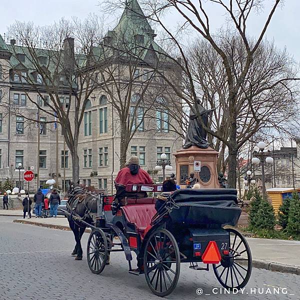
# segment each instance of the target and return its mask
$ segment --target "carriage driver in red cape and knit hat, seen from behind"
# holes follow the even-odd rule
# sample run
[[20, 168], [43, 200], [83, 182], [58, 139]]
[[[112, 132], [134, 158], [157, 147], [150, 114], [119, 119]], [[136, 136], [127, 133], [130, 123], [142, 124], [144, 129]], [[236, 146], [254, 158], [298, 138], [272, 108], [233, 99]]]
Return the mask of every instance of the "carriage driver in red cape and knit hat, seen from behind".
[[[116, 195], [114, 204], [124, 204], [125, 186], [127, 184], [153, 184], [149, 174], [139, 166], [139, 159], [137, 156], [132, 155], [125, 163], [125, 167], [120, 169], [117, 173], [114, 185], [116, 188]], [[138, 195], [144, 196], [144, 193]]]

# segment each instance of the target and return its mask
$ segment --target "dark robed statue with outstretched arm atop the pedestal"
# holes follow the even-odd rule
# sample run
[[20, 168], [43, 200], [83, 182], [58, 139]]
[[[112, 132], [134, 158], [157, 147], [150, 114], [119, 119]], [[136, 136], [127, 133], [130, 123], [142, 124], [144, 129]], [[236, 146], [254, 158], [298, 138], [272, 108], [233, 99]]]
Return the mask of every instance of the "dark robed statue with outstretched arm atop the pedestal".
[[[208, 125], [208, 115], [211, 115], [213, 109], [205, 109], [201, 106], [200, 102], [197, 101], [197, 107], [201, 115], [204, 125]], [[186, 132], [186, 137], [183, 145], [183, 149], [187, 149], [190, 146], [197, 146], [201, 149], [206, 149], [209, 145], [207, 138], [207, 131], [203, 128], [201, 121], [198, 119], [195, 114], [196, 107], [192, 106], [189, 112], [189, 123]]]

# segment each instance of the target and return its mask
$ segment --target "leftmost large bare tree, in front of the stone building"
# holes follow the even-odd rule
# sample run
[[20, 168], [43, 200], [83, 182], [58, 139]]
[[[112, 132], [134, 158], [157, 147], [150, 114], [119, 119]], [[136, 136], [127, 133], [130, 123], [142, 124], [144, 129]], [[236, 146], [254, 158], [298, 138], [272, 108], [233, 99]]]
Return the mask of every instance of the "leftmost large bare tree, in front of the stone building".
[[[9, 31], [12, 36], [17, 36], [11, 44], [10, 80], [19, 82], [31, 105], [49, 116], [51, 120], [46, 123], [61, 124], [71, 154], [72, 178], [77, 180], [80, 125], [85, 104], [97, 87], [97, 71], [91, 64], [102, 59], [92, 51], [102, 41], [101, 20], [89, 15], [83, 21], [61, 19], [44, 27], [17, 21]], [[67, 103], [62, 103], [62, 95], [67, 97]], [[38, 121], [19, 107], [14, 107], [14, 113], [24, 116], [29, 122]]]

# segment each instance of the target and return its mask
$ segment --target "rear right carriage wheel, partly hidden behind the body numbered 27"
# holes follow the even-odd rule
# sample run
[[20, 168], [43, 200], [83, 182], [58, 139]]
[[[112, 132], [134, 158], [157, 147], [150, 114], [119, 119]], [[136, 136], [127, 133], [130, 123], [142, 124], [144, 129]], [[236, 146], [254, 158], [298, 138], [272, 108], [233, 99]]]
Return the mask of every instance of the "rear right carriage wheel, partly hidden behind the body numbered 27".
[[229, 255], [219, 264], [213, 264], [217, 280], [225, 288], [244, 287], [251, 275], [252, 257], [245, 238], [235, 229], [226, 228], [229, 234]]

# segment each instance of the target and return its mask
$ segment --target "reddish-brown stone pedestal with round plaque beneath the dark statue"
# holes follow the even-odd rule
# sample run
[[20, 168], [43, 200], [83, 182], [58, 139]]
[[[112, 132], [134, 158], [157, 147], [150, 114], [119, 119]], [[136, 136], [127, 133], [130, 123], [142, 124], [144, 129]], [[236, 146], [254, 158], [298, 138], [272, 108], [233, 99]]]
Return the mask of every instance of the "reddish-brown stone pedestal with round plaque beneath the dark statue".
[[194, 172], [196, 183], [201, 188], [219, 188], [218, 175], [216, 170], [216, 162], [218, 152], [208, 147], [201, 149], [191, 146], [187, 149], [180, 149], [173, 153], [176, 162], [176, 180], [180, 187], [185, 187], [185, 181], [189, 177], [190, 172], [194, 172], [194, 160], [201, 162], [200, 172]]

